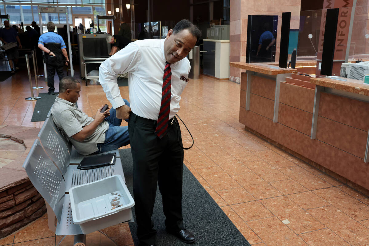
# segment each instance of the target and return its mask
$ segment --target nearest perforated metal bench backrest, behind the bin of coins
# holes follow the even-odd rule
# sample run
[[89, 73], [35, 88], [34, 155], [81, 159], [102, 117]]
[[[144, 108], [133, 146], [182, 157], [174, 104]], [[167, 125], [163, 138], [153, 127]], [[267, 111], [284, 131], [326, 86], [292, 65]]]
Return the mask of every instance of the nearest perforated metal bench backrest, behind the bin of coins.
[[38, 139], [35, 140], [30, 152], [23, 163], [31, 183], [42, 195], [61, 221], [65, 181], [61, 172], [45, 153]]

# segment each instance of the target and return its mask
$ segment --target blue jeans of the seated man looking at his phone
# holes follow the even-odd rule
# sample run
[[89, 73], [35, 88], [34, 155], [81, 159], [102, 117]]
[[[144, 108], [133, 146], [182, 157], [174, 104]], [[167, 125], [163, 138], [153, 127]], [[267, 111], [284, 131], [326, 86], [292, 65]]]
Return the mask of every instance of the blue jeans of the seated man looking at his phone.
[[[130, 103], [123, 99], [125, 104], [130, 107]], [[110, 109], [110, 116], [105, 119], [108, 122], [109, 128], [105, 132], [104, 143], [98, 143], [97, 148], [98, 153], [107, 152], [109, 150], [118, 149], [122, 146], [128, 145], [130, 143], [130, 136], [128, 135], [128, 127], [121, 127], [121, 119], [117, 118], [117, 114], [114, 108]], [[129, 119], [125, 119], [129, 121]]]

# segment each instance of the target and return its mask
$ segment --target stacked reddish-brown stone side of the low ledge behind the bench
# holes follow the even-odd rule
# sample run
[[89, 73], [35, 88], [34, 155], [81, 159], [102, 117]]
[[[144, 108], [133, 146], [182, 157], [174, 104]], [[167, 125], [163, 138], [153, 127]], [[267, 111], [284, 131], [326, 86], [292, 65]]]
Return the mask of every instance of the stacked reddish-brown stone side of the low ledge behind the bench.
[[0, 238], [17, 231], [46, 212], [44, 198], [31, 181], [0, 193]]

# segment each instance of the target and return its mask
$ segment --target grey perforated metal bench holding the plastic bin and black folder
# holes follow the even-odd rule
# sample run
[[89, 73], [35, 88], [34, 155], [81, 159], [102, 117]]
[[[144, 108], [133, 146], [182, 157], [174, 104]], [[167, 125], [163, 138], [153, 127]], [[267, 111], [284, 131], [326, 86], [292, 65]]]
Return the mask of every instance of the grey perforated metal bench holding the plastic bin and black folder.
[[[82, 235], [80, 226], [73, 224], [68, 191], [71, 187], [115, 174], [121, 175], [125, 182], [122, 163], [120, 156], [117, 156], [114, 165], [89, 170], [77, 169], [78, 163], [85, 156], [79, 155], [77, 156], [80, 158], [79, 162], [76, 162], [76, 159], [73, 162], [72, 144], [66, 134], [54, 124], [51, 114], [48, 116], [38, 134], [39, 139], [32, 145], [23, 167], [45, 200], [49, 228], [56, 235], [75, 235], [75, 239], [80, 238], [83, 241], [85, 235]], [[118, 150], [111, 152], [119, 153]], [[56, 226], [54, 218], [58, 220]], [[133, 219], [129, 222], [132, 221]]]

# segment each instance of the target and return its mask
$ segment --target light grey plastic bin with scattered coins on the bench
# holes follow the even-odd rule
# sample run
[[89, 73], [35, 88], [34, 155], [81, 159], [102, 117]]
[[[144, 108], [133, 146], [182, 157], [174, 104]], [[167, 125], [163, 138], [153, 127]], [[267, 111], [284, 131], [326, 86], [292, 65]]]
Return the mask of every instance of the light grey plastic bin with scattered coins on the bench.
[[132, 219], [135, 202], [120, 175], [69, 189], [73, 223], [88, 234]]

